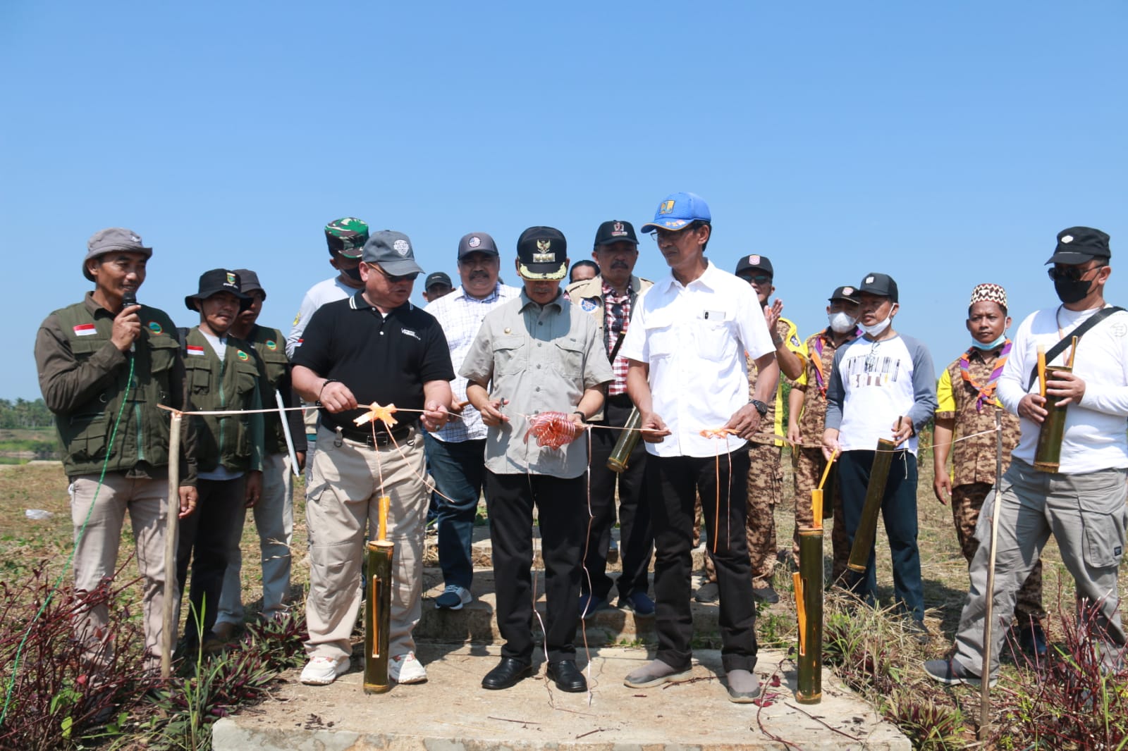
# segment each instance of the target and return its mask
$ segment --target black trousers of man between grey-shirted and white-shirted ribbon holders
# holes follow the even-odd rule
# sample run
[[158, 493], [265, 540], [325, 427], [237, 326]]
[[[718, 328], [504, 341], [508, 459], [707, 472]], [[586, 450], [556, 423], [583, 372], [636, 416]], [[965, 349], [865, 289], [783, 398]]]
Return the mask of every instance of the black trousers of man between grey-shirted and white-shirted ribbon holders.
[[[603, 406], [602, 425], [623, 427], [634, 405], [626, 395], [608, 397]], [[615, 489], [619, 492], [619, 560], [623, 573], [616, 589], [620, 598], [650, 589], [647, 569], [654, 553], [654, 532], [650, 527], [650, 504], [646, 502], [644, 477], [646, 449], [642, 441], [631, 452], [626, 471], [619, 474], [607, 468], [620, 431], [591, 431], [591, 530], [588, 532], [588, 555], [583, 565], [588, 576], [581, 577], [580, 590], [594, 592], [607, 599], [611, 577], [607, 575], [607, 551], [611, 547], [611, 528], [615, 527]], [[588, 577], [591, 578], [590, 585]]]

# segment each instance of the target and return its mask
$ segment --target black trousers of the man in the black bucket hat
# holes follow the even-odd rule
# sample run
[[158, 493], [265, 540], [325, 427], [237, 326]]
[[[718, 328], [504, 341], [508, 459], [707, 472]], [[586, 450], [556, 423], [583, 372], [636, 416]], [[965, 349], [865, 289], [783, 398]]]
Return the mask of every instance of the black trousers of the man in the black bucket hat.
[[199, 644], [201, 636], [215, 625], [230, 539], [241, 531], [239, 519], [247, 513], [246, 488], [246, 475], [231, 480], [199, 480], [195, 513], [182, 519], [177, 528], [176, 586], [182, 598], [188, 563], [192, 564], [192, 590], [188, 592], [192, 608], [184, 625], [190, 644]]

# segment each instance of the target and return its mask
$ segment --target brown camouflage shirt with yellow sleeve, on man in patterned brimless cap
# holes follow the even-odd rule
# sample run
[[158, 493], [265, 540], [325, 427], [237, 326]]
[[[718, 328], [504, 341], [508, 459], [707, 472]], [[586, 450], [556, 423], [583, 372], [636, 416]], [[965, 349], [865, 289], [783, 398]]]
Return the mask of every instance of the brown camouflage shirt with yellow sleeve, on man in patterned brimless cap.
[[[998, 363], [1002, 346], [986, 352], [971, 348], [968, 359], [968, 370], [971, 378], [981, 385], [990, 380], [990, 373]], [[955, 418], [955, 430], [952, 440], [952, 485], [970, 483], [995, 484], [995, 410], [985, 404], [982, 412], [976, 409], [979, 392], [963, 380], [960, 373], [960, 359], [948, 365], [940, 377], [936, 389], [938, 404], [937, 419]], [[997, 405], [997, 401], [995, 403]], [[1002, 407], [999, 407], [1002, 408]], [[984, 435], [961, 441], [964, 435], [975, 435], [990, 431]], [[1019, 417], [1003, 412], [1003, 470], [1011, 463], [1011, 451], [1019, 445]]]

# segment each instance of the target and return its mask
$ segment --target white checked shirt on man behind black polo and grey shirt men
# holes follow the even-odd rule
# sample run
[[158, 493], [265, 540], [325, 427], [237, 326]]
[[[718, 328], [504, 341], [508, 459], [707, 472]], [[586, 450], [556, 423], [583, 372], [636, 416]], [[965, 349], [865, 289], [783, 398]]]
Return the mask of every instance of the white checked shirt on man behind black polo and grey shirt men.
[[[457, 373], [462, 366], [466, 353], [470, 351], [474, 337], [477, 336], [482, 319], [486, 313], [510, 300], [521, 297], [521, 290], [515, 286], [508, 286], [497, 283], [494, 291], [487, 297], [477, 300], [468, 297], [466, 291], [459, 286], [448, 295], [441, 297], [428, 304], [425, 310], [439, 320], [442, 333], [447, 335], [447, 344], [450, 346], [450, 360]], [[466, 400], [466, 379], [458, 376], [450, 382], [450, 390], [458, 401]], [[466, 405], [462, 410], [462, 418], [457, 417], [447, 423], [441, 431], [432, 433], [440, 441], [459, 443], [484, 439], [486, 426], [482, 424], [482, 415], [474, 407]]]

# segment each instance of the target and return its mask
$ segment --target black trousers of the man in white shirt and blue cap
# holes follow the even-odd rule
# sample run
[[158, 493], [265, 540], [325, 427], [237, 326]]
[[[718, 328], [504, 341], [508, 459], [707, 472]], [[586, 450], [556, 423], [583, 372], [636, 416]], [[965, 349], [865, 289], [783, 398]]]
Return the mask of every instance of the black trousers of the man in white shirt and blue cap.
[[[689, 609], [694, 498], [699, 493], [710, 555], [721, 590], [721, 662], [725, 671], [756, 668], [756, 606], [744, 520], [748, 449], [713, 457], [647, 457], [646, 494], [654, 525], [654, 595], [658, 659], [688, 669], [694, 624]], [[720, 515], [717, 478], [720, 477]], [[717, 523], [720, 520], [720, 523]], [[716, 527], [720, 527], [720, 532]]]

